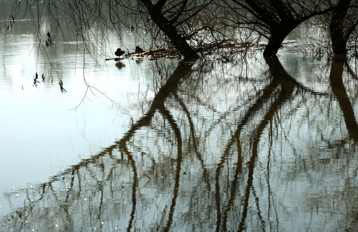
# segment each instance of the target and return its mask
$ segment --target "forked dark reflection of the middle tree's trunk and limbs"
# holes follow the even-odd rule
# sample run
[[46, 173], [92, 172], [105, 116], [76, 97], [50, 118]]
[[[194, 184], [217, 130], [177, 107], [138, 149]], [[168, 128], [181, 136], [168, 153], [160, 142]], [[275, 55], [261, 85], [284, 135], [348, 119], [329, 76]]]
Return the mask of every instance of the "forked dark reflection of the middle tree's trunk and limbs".
[[[245, 200], [244, 200], [244, 208], [242, 211], [242, 217], [241, 217], [241, 223], [238, 231], [245, 230], [245, 220], [247, 216], [247, 209], [248, 209], [248, 200], [250, 198], [250, 191], [255, 192], [252, 188], [252, 180], [253, 180], [253, 169], [255, 167], [255, 160], [257, 158], [257, 149], [258, 149], [258, 142], [260, 141], [261, 133], [263, 129], [267, 126], [267, 124], [272, 120], [272, 117], [274, 114], [280, 110], [280, 107], [282, 106], [285, 101], [290, 99], [291, 93], [296, 89], [296, 91], [308, 91], [312, 92], [314, 94], [318, 94], [312, 90], [309, 90], [299, 84], [295, 81], [294, 78], [292, 78], [282, 67], [281, 63], [279, 62], [278, 58], [276, 56], [274, 57], [265, 57], [265, 61], [269, 66], [269, 70], [271, 73], [272, 81], [264, 90], [262, 90], [261, 97], [256, 101], [255, 104], [253, 104], [247, 111], [246, 115], [243, 117], [241, 123], [239, 124], [236, 132], [234, 133], [231, 141], [227, 144], [226, 149], [223, 153], [223, 156], [221, 157], [221, 161], [218, 165], [217, 171], [216, 171], [216, 199], [217, 199], [217, 211], [218, 211], [218, 217], [217, 217], [217, 231], [220, 231], [221, 226], [221, 203], [220, 203], [220, 191], [219, 191], [219, 174], [222, 168], [223, 163], [226, 161], [229, 151], [231, 147], [234, 144], [234, 141], [237, 142], [237, 148], [238, 148], [238, 162], [236, 164], [236, 171], [235, 171], [235, 178], [233, 181], [233, 188], [230, 195], [230, 199], [228, 202], [228, 206], [226, 207], [226, 212], [224, 213], [224, 219], [223, 219], [223, 230], [226, 230], [226, 222], [227, 222], [227, 212], [231, 210], [231, 205], [233, 203], [234, 197], [235, 197], [235, 191], [236, 185], [237, 185], [237, 178], [240, 174], [242, 160], [241, 160], [241, 144], [240, 144], [240, 133], [245, 124], [252, 119], [255, 113], [257, 113], [258, 110], [263, 108], [263, 105], [268, 105], [267, 112], [263, 115], [263, 120], [261, 123], [254, 129], [252, 133], [252, 155], [251, 159], [248, 162], [248, 180], [246, 185], [246, 191], [245, 191]], [[270, 99], [274, 98], [274, 99]], [[269, 101], [271, 100], [271, 101]], [[260, 210], [258, 209], [258, 213], [260, 214]], [[260, 221], [263, 224], [262, 217], [260, 217]]]

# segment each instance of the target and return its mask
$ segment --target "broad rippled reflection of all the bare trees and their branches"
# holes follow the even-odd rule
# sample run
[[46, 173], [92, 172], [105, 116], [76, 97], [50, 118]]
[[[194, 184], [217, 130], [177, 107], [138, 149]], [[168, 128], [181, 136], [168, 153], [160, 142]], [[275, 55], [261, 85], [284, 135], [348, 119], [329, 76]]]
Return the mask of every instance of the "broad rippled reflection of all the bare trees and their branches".
[[331, 88], [321, 89], [277, 57], [245, 62], [226, 74], [180, 63], [120, 140], [20, 191], [23, 206], [0, 228], [356, 229], [357, 78], [348, 62], [313, 71], [326, 70]]

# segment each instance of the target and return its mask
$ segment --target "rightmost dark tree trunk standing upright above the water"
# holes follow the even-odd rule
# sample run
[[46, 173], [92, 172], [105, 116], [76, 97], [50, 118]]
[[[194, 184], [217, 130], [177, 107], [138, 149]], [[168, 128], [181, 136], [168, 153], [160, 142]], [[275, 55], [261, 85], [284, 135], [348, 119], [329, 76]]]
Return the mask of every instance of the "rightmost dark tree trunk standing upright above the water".
[[349, 34], [344, 32], [344, 20], [347, 16], [348, 7], [351, 0], [339, 0], [335, 10], [332, 11], [331, 23], [329, 25], [329, 33], [332, 40], [333, 57], [335, 59], [344, 59], [347, 55], [347, 40]]

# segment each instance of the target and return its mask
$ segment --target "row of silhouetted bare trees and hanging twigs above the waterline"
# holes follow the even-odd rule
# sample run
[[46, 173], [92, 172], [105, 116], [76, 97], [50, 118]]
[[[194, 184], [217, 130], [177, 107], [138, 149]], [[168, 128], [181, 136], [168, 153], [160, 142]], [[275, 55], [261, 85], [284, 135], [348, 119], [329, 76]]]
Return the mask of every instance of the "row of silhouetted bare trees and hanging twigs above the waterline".
[[[101, 53], [96, 44], [103, 45], [108, 34], [125, 25], [134, 34], [150, 34], [150, 49], [173, 47], [184, 58], [195, 59], [213, 49], [220, 49], [225, 57], [265, 39], [263, 54], [274, 55], [298, 25], [315, 16], [330, 15], [326, 18], [331, 20], [333, 55], [342, 57], [358, 24], [356, 5], [352, 0], [30, 0], [15, 1], [7, 25], [31, 15], [43, 42], [42, 18], [57, 21], [55, 34], [63, 28], [60, 18], [66, 18], [75, 25], [77, 38], [86, 48]], [[100, 33], [93, 33], [94, 29]], [[50, 44], [48, 39], [45, 42]]]

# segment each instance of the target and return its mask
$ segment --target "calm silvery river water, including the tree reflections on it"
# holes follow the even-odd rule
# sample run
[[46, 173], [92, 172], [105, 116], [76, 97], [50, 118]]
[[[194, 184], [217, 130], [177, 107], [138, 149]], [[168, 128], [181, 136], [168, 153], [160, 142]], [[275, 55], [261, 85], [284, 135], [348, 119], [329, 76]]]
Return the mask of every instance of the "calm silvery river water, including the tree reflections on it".
[[[354, 60], [96, 63], [70, 30], [44, 57], [17, 23], [0, 39], [0, 231], [357, 231]], [[109, 55], [145, 46], [120, 34]]]

